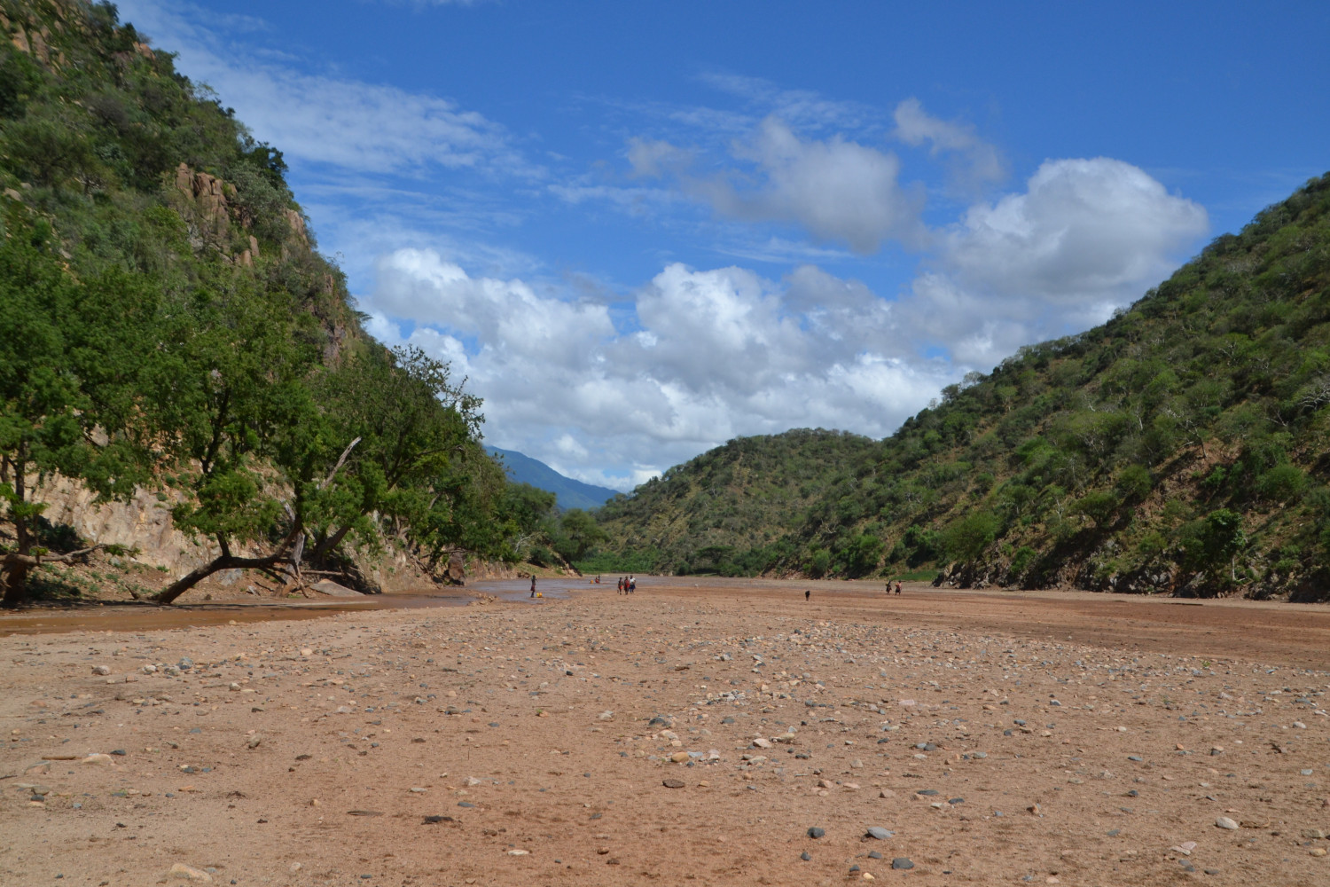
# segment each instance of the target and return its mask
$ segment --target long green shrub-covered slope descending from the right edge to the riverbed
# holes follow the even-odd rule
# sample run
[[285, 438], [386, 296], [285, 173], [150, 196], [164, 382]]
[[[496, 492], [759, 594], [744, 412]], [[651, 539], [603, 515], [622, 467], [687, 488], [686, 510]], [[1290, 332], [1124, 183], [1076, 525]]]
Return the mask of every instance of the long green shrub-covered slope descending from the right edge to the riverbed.
[[[858, 448], [853, 465], [818, 467], [787, 532], [791, 515], [766, 517], [734, 484], [708, 509], [746, 528], [726, 544], [746, 547], [730, 560], [747, 572], [939, 567], [940, 581], [967, 586], [1323, 598], [1327, 432], [1323, 177], [1108, 323], [1024, 347]], [[672, 485], [702, 487], [721, 452], [672, 469]], [[746, 483], [793, 484], [782, 463], [771, 471]], [[648, 520], [660, 500], [644, 487], [606, 508], [617, 545], [709, 544], [696, 523]]]

